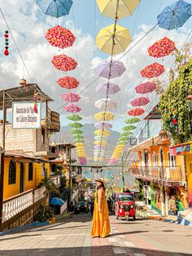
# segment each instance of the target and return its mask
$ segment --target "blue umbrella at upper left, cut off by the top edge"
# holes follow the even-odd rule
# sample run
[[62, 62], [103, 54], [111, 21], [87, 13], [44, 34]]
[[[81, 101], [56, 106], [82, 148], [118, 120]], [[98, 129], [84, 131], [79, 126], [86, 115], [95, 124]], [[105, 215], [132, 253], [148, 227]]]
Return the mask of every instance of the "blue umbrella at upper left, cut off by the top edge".
[[36, 0], [36, 3], [46, 15], [57, 18], [68, 15], [72, 7], [72, 0]]

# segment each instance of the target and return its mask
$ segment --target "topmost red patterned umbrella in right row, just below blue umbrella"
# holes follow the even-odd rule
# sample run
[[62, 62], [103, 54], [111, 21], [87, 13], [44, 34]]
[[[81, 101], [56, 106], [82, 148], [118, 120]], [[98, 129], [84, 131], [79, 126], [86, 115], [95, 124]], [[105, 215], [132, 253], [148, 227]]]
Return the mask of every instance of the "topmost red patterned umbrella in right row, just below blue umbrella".
[[174, 50], [176, 50], [175, 42], [165, 37], [155, 42], [147, 51], [151, 57], [161, 58], [168, 56]]

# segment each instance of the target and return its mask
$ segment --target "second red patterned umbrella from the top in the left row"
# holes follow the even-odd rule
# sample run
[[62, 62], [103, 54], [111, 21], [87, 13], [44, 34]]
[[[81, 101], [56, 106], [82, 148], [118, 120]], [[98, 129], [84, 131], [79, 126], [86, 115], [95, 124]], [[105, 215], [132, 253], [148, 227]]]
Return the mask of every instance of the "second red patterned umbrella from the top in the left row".
[[52, 60], [55, 68], [62, 71], [70, 71], [76, 68], [76, 61], [67, 55], [55, 55]]

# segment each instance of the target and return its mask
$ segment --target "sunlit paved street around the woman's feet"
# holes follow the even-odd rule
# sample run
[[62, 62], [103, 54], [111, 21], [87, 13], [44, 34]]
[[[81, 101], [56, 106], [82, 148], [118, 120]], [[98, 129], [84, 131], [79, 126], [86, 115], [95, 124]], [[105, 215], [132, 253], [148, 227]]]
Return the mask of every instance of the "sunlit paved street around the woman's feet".
[[90, 214], [0, 236], [0, 255], [181, 256], [192, 255], [192, 227], [152, 219], [110, 217], [111, 236], [91, 238]]

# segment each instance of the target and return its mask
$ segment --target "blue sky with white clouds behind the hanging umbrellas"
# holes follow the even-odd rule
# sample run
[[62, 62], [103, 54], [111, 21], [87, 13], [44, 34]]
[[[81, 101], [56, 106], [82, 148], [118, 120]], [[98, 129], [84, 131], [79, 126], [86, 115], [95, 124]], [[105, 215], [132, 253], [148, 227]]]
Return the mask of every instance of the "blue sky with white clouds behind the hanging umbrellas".
[[[85, 123], [94, 121], [94, 113], [98, 112], [98, 109], [94, 107], [94, 102], [103, 98], [103, 95], [95, 92], [95, 86], [103, 79], [97, 77], [94, 73], [94, 67], [109, 56], [98, 51], [94, 38], [100, 29], [112, 24], [113, 20], [101, 15], [95, 2], [94, 0], [74, 0], [70, 14], [57, 20], [44, 15], [33, 0], [0, 0], [2, 12], [24, 58], [28, 73], [32, 77], [32, 80], [28, 77], [11, 38], [10, 55], [3, 55], [3, 33], [7, 29], [7, 25], [0, 14], [0, 86], [1, 88], [17, 86], [21, 77], [25, 77], [27, 82], [37, 82], [42, 90], [55, 99], [51, 108], [59, 111], [63, 126], [67, 124], [66, 113], [62, 107], [64, 103], [61, 99], [64, 90], [56, 84], [56, 80], [65, 76], [66, 73], [53, 67], [51, 64], [53, 55], [64, 53], [72, 56], [78, 62], [76, 71], [68, 72], [68, 75], [76, 77], [80, 82], [76, 92], [81, 93], [81, 90], [86, 88], [81, 93], [79, 104], [82, 108], [81, 115], [84, 117]], [[142, 0], [133, 16], [119, 21], [120, 25], [129, 29], [133, 40], [127, 51], [157, 23], [156, 16], [172, 2], [175, 2], [175, 0]], [[188, 0], [188, 2], [190, 1]], [[71, 48], [58, 50], [46, 42], [46, 30], [56, 24], [70, 29], [76, 35], [76, 42]], [[156, 61], [147, 55], [147, 48], [156, 40], [167, 36], [176, 42], [178, 49], [181, 49], [185, 39], [190, 34], [191, 25], [192, 19], [188, 20], [181, 29], [172, 31], [159, 29], [157, 26], [132, 51], [123, 57], [122, 55], [115, 56], [115, 60], [121, 58], [127, 69], [122, 77], [114, 79], [114, 82], [121, 88], [117, 95], [111, 96], [111, 99], [116, 99], [118, 102], [115, 111], [116, 118], [113, 121], [115, 130], [120, 130], [123, 126], [123, 121], [127, 118], [126, 112], [131, 108], [130, 101], [139, 96], [136, 95], [134, 87], [141, 82], [146, 82], [141, 77], [140, 70], [147, 64]], [[172, 61], [173, 59], [170, 56], [164, 58], [164, 60], [158, 60], [166, 67], [166, 72], [160, 77], [165, 82], [168, 82], [168, 68], [171, 67]], [[94, 80], [97, 81], [94, 82]], [[152, 106], [155, 103], [156, 95], [151, 94], [148, 97], [151, 99], [150, 106]], [[149, 109], [150, 107], [146, 107], [146, 111]]]

